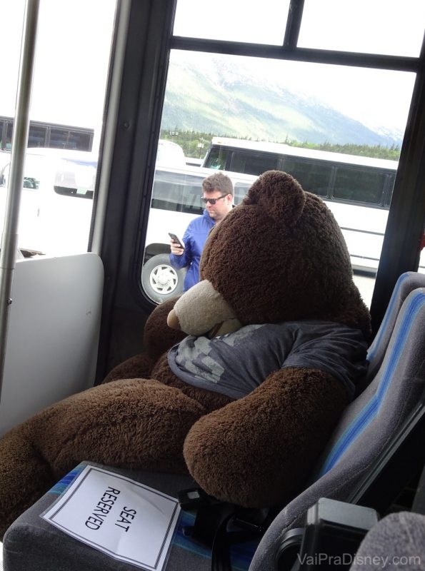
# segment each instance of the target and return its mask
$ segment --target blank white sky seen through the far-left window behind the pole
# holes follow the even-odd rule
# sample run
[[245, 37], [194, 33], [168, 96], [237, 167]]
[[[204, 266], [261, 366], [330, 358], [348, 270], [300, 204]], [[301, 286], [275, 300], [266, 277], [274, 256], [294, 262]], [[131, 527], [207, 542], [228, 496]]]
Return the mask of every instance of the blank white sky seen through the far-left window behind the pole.
[[[32, 119], [87, 127], [101, 122], [115, 4], [40, 1]], [[16, 105], [24, 6], [24, 0], [0, 0], [0, 115], [13, 115]]]

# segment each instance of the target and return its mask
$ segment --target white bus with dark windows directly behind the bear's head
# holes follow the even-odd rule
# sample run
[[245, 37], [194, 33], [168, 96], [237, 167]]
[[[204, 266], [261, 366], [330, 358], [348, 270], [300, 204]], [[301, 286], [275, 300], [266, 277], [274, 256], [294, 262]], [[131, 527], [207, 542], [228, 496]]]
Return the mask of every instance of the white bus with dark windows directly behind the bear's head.
[[251, 175], [286, 171], [331, 208], [353, 268], [371, 273], [378, 268], [397, 161], [214, 137], [204, 166]]

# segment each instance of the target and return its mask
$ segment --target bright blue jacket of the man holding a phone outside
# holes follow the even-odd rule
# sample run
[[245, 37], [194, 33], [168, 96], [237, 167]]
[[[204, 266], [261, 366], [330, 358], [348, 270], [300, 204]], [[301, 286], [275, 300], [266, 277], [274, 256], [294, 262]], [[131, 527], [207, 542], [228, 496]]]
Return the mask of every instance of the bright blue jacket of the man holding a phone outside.
[[194, 218], [186, 228], [183, 236], [184, 253], [182, 256], [170, 254], [170, 263], [173, 268], [189, 268], [184, 278], [183, 290], [187, 291], [192, 285], [199, 282], [199, 261], [204, 249], [206, 237], [215, 222], [205, 209], [202, 216]]

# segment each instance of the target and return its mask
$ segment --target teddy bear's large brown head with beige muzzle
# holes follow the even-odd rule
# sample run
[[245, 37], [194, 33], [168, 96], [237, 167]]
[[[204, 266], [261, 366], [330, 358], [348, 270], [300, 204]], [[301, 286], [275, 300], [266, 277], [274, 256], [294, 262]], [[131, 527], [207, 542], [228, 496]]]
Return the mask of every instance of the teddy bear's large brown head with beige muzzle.
[[259, 176], [243, 203], [211, 231], [200, 271], [200, 283], [169, 316], [169, 324], [186, 333], [299, 319], [370, 333], [369, 311], [334, 216], [282, 171]]

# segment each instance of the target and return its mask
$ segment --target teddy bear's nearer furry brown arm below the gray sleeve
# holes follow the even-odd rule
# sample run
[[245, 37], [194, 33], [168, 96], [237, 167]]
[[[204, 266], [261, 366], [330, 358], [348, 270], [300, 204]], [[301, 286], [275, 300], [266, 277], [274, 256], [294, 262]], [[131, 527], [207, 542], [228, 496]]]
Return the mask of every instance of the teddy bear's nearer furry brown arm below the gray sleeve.
[[321, 370], [284, 368], [245, 398], [198, 420], [184, 443], [206, 492], [246, 507], [288, 501], [302, 489], [347, 395]]

